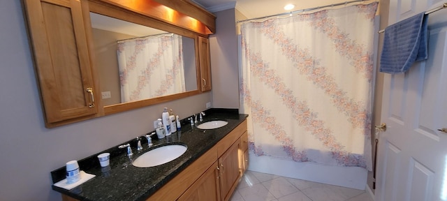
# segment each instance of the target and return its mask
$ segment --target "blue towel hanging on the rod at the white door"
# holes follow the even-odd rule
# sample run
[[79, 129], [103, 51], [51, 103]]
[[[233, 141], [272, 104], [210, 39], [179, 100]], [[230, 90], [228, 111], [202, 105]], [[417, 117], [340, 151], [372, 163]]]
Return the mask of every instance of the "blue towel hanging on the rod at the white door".
[[405, 73], [414, 61], [427, 59], [427, 18], [420, 13], [385, 29], [380, 72]]

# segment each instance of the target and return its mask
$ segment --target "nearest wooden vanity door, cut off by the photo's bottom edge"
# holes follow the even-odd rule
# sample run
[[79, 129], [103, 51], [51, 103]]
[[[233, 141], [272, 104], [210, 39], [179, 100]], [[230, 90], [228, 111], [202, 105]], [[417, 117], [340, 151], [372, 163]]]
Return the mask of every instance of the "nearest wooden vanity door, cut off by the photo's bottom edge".
[[187, 191], [180, 196], [179, 201], [220, 201], [219, 170], [217, 162], [203, 173]]

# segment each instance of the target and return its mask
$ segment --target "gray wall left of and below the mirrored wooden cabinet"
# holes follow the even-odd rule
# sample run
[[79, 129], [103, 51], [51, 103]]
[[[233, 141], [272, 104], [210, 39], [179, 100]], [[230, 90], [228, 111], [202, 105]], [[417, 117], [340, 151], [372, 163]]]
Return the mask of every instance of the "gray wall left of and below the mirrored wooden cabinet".
[[163, 107], [184, 118], [211, 101], [205, 93], [47, 129], [20, 1], [0, 1], [0, 27], [0, 200], [61, 200], [52, 170], [153, 131]]

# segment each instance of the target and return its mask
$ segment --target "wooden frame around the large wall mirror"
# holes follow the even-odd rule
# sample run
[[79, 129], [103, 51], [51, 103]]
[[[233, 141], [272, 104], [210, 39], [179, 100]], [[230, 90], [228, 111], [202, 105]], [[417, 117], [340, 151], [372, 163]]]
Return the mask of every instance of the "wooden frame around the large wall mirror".
[[[189, 38], [193, 38], [193, 40], [194, 40], [194, 47], [195, 47], [195, 54], [196, 54], [196, 75], [197, 75], [196, 76], [196, 85], [197, 85], [196, 90], [186, 91], [183, 93], [172, 94], [172, 95], [168, 95], [168, 96], [149, 98], [149, 99], [145, 99], [145, 100], [141, 100], [141, 101], [133, 101], [133, 102], [103, 106], [103, 109], [104, 109], [103, 112], [105, 115], [115, 114], [117, 112], [124, 112], [124, 111], [128, 111], [128, 110], [133, 110], [133, 109], [137, 109], [137, 108], [145, 107], [145, 106], [149, 106], [149, 105], [164, 103], [167, 101], [173, 101], [173, 100], [177, 100], [179, 98], [186, 98], [189, 96], [194, 96], [194, 95], [202, 93], [202, 91], [200, 91], [200, 64], [199, 64], [200, 61], [198, 58], [198, 55], [199, 55], [198, 36], [205, 36], [207, 38], [206, 35], [198, 34], [196, 32], [189, 31], [189, 30], [183, 29], [181, 27], [177, 27], [173, 24], [169, 24], [167, 22], [162, 22], [160, 20], [156, 20], [152, 17], [148, 17], [148, 16], [141, 15], [138, 13], [133, 13], [131, 10], [119, 8], [117, 6], [112, 6], [107, 3], [103, 3], [103, 2], [98, 3], [96, 1], [89, 1], [89, 12], [97, 13], [100, 15], [105, 15], [108, 17], [114, 17], [119, 20], [133, 22], [135, 24], [141, 24], [143, 26], [152, 27], [154, 29], [168, 31], [170, 33], [178, 34], [180, 36], [186, 36]], [[88, 19], [88, 22], [90, 23], [91, 21]], [[91, 26], [89, 26], [89, 27], [90, 27], [89, 29], [91, 29]], [[91, 30], [89, 30], [87, 32], [92, 33]], [[96, 79], [99, 79], [99, 78], [96, 77]]]

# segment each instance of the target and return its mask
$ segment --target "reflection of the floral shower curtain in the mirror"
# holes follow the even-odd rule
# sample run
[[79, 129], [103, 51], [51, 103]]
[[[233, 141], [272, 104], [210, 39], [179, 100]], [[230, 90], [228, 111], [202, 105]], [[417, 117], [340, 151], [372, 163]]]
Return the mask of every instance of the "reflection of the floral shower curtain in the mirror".
[[117, 54], [122, 103], [186, 91], [182, 36], [119, 41]]

